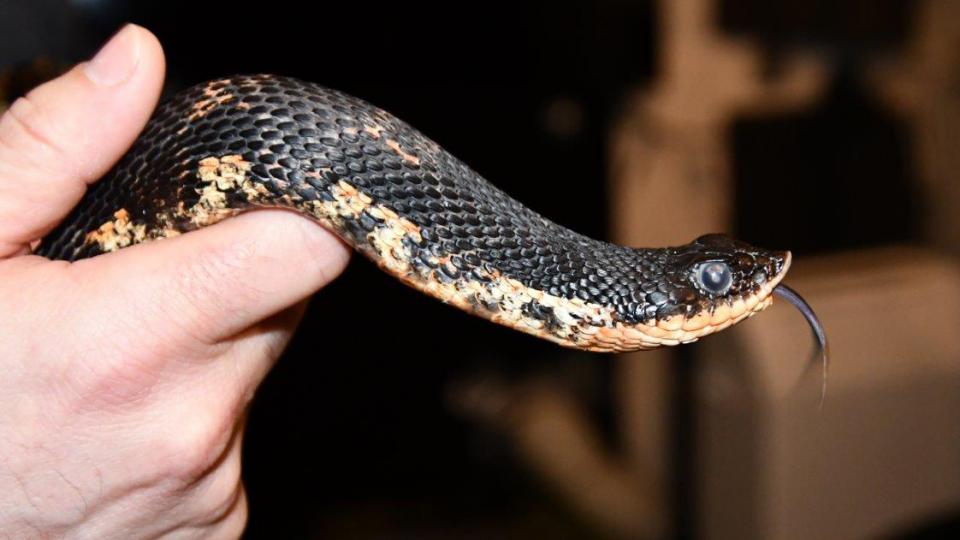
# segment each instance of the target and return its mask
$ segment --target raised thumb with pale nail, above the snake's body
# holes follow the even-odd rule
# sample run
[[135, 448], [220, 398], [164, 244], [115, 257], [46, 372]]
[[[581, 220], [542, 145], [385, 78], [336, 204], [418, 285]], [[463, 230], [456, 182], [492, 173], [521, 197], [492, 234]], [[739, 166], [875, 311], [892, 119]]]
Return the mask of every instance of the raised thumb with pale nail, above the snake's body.
[[127, 25], [93, 60], [0, 117], [0, 258], [49, 232], [130, 146], [156, 105], [163, 71], [157, 39]]

